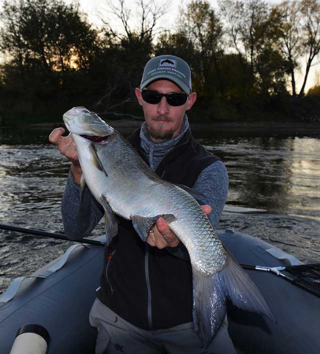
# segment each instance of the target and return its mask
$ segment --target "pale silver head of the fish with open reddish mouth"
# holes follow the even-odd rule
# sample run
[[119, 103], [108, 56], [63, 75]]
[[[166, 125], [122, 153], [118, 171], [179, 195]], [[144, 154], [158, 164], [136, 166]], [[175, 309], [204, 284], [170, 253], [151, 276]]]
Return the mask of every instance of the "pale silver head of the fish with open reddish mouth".
[[97, 114], [84, 107], [74, 107], [63, 114], [63, 121], [72, 135], [99, 142], [114, 133], [114, 129]]

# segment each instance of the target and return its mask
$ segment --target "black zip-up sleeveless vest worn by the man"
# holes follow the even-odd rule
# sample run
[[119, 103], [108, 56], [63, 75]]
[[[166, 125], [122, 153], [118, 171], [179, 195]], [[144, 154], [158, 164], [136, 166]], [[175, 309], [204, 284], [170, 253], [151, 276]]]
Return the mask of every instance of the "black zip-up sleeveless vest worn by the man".
[[[140, 146], [140, 129], [128, 140], [148, 163]], [[167, 181], [191, 188], [201, 171], [218, 159], [193, 139], [189, 128], [155, 172]], [[142, 242], [132, 221], [119, 218], [119, 233], [105, 249], [98, 298], [119, 316], [145, 330], [192, 321], [191, 265], [167, 249]]]

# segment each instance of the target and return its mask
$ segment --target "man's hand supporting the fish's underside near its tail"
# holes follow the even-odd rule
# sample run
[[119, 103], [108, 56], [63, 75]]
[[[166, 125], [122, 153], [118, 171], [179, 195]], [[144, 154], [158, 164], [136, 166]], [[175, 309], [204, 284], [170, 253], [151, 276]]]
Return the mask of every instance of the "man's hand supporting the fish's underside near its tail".
[[[202, 210], [209, 215], [211, 213], [210, 205], [203, 205]], [[169, 228], [166, 220], [163, 217], [159, 217], [154, 224], [151, 232], [149, 232], [146, 242], [150, 246], [157, 248], [176, 247], [180, 240]]]

